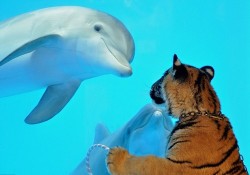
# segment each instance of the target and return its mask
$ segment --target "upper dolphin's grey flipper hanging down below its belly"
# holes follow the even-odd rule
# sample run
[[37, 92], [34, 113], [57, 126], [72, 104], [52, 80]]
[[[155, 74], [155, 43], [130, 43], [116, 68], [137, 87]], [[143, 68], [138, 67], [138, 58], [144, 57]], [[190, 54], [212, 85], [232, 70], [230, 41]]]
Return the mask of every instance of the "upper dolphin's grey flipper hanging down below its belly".
[[28, 124], [37, 124], [54, 117], [70, 101], [80, 81], [48, 86], [37, 106], [26, 117]]

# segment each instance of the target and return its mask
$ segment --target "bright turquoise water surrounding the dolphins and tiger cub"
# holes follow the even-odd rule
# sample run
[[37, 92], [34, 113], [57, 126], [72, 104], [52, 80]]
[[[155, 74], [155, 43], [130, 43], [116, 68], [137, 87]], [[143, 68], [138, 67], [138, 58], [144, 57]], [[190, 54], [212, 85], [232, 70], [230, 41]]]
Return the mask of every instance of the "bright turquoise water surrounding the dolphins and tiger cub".
[[0, 20], [59, 5], [120, 19], [136, 44], [133, 75], [86, 80], [63, 111], [39, 125], [23, 120], [44, 89], [0, 98], [0, 174], [69, 174], [93, 143], [98, 122], [115, 131], [151, 102], [150, 86], [171, 66], [174, 53], [184, 63], [214, 67], [212, 84], [250, 168], [250, 1], [5, 0]]

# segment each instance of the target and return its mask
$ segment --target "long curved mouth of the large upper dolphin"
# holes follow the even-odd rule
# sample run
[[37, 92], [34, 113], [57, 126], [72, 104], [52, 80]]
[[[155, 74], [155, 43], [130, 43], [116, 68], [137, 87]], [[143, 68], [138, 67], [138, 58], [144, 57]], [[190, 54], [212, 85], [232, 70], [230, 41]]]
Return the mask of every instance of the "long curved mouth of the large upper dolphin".
[[111, 53], [111, 55], [116, 59], [116, 61], [123, 66], [123, 68], [125, 69], [125, 71], [128, 72], [129, 75], [132, 74], [132, 69], [131, 66], [128, 62], [128, 60], [130, 58], [127, 58], [126, 55], [121, 51], [118, 50], [116, 47], [112, 46], [112, 45], [108, 45], [107, 42], [101, 38], [106, 46], [106, 48], [109, 50], [109, 52]]

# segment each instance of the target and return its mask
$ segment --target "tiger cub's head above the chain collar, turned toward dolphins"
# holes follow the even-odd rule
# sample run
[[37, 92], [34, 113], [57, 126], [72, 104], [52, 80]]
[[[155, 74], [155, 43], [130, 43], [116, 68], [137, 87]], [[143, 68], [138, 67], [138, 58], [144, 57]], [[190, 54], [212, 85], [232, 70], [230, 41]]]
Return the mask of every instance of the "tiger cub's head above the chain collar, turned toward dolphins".
[[195, 68], [174, 55], [173, 66], [152, 85], [150, 96], [156, 104], [165, 103], [174, 117], [189, 112], [216, 113], [220, 103], [210, 84], [213, 77], [211, 66]]

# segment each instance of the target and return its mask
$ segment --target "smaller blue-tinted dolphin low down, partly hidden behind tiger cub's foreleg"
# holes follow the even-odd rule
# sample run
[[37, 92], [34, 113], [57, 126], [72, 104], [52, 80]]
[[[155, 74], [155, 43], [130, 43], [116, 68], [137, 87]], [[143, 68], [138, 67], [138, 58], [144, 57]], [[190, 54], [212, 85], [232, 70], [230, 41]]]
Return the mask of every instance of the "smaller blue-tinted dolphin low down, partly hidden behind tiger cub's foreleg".
[[[125, 126], [110, 134], [103, 125], [98, 124], [94, 144], [108, 147], [121, 146], [133, 155], [165, 156], [168, 135], [173, 128], [173, 122], [166, 109], [155, 104], [145, 105]], [[90, 153], [90, 168], [93, 175], [109, 175], [106, 168], [107, 151], [95, 148]], [[84, 159], [71, 175], [87, 175]]]

